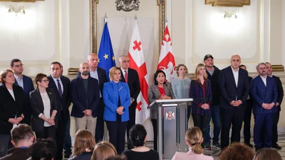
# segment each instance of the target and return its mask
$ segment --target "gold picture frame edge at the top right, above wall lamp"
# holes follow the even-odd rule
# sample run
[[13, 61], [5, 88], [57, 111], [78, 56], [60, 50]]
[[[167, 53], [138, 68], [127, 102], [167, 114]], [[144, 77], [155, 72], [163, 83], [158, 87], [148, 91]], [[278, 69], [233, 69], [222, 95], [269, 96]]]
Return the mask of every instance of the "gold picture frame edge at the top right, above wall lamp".
[[213, 7], [243, 7], [250, 6], [251, 0], [205, 0], [205, 4]]

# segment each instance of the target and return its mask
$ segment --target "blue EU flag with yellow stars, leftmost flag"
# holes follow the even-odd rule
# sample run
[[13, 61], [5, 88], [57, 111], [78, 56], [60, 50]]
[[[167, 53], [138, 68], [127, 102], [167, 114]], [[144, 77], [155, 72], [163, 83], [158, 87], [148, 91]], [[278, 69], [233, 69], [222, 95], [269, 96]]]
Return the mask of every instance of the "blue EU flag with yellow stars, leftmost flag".
[[106, 70], [107, 78], [109, 80], [109, 69], [116, 66], [116, 63], [107, 22], [105, 22], [104, 25], [98, 57], [98, 66]]

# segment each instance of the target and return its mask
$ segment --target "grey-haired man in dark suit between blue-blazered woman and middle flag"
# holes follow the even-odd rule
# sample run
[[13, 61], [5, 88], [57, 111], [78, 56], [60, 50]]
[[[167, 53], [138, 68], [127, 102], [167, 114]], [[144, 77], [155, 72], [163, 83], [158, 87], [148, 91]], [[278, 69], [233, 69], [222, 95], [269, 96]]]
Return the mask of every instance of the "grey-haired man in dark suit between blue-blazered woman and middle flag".
[[[136, 123], [137, 96], [139, 96], [139, 92], [141, 92], [139, 74], [136, 70], [129, 68], [129, 62], [129, 57], [126, 55], [119, 57], [121, 81], [126, 82], [129, 86], [131, 97], [131, 105], [129, 107], [130, 120], [127, 122], [127, 137], [129, 137], [131, 127]], [[127, 138], [127, 140], [129, 141], [129, 138]], [[127, 143], [127, 148], [130, 149], [129, 143]]]

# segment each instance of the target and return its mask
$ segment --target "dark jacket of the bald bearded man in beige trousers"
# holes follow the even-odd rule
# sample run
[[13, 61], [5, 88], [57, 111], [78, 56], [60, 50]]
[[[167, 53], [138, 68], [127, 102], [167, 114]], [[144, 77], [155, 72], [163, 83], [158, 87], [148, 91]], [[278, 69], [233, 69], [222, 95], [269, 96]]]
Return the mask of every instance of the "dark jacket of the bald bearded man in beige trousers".
[[[88, 97], [88, 104], [86, 104]], [[71, 80], [71, 101], [74, 106], [71, 110], [71, 116], [84, 117], [84, 110], [92, 110], [92, 116], [97, 117], [97, 108], [99, 104], [99, 85], [95, 78], [88, 78], [88, 95], [85, 94], [83, 79], [81, 77]]]

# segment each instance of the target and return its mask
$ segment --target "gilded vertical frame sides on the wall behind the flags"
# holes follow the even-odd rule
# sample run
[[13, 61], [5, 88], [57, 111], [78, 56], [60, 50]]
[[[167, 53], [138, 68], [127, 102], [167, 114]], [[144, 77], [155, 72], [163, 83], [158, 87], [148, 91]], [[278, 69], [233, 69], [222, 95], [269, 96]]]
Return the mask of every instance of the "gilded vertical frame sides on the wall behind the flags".
[[[155, 0], [153, 0], [155, 1]], [[160, 43], [165, 30], [166, 3], [167, 0], [156, 0], [160, 8]], [[90, 50], [97, 53], [97, 3], [99, 0], [90, 0]]]

